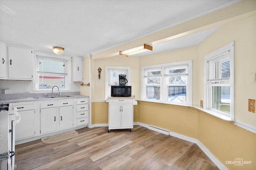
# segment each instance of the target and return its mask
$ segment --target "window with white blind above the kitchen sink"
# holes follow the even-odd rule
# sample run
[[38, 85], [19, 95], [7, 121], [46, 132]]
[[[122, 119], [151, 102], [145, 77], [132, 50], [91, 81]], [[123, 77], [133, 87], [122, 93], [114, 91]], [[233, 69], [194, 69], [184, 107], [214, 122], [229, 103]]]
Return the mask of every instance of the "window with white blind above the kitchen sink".
[[37, 89], [49, 90], [53, 86], [67, 89], [67, 61], [37, 56]]

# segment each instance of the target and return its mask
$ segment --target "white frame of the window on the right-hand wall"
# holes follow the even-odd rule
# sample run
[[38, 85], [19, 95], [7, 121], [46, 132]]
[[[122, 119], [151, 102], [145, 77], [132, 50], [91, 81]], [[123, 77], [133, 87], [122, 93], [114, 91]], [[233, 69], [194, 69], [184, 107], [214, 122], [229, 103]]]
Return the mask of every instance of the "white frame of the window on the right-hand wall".
[[[207, 61], [218, 56], [224, 51], [230, 50], [230, 81], [227, 84], [209, 84], [207, 83]], [[230, 114], [213, 109], [212, 106], [212, 86], [230, 86]], [[220, 96], [218, 96], [220, 97]], [[214, 112], [216, 117], [228, 117], [234, 119], [234, 41], [213, 51], [204, 57], [204, 109]]]

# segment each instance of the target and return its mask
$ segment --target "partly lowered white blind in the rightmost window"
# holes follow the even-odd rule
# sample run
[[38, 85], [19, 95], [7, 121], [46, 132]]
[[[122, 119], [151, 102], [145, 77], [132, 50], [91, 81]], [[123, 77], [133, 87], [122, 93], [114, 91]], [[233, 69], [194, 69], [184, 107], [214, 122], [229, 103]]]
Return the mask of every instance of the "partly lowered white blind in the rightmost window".
[[230, 80], [230, 50], [224, 51], [207, 61], [207, 81], [226, 82]]

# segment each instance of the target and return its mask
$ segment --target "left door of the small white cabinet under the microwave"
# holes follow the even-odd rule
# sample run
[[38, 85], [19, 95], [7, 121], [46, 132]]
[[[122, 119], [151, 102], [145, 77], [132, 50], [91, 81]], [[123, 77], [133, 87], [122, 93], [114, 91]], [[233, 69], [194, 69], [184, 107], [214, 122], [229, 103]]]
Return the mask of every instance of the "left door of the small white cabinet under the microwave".
[[110, 104], [109, 107], [108, 126], [121, 127], [121, 105]]

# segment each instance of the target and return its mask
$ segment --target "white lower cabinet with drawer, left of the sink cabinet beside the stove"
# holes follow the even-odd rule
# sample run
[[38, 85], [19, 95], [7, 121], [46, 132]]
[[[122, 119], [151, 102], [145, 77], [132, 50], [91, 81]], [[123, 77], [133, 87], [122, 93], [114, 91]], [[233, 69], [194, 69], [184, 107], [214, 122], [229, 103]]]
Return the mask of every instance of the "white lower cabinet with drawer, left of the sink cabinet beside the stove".
[[14, 105], [20, 113], [21, 119], [15, 126], [15, 139], [34, 137], [35, 129], [35, 106], [34, 104]]

